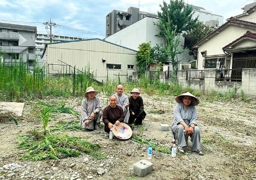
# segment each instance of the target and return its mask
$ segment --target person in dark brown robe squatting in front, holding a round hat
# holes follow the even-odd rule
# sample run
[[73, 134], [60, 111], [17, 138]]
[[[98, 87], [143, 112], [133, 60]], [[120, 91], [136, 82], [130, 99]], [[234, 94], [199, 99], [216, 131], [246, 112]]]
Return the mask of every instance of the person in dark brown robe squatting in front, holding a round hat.
[[109, 104], [110, 105], [104, 108], [102, 115], [102, 121], [105, 124], [104, 131], [108, 133], [110, 132], [110, 129], [112, 129], [113, 124], [118, 126], [120, 122], [123, 122], [123, 119], [125, 119], [123, 108], [117, 106], [117, 96], [110, 96]]

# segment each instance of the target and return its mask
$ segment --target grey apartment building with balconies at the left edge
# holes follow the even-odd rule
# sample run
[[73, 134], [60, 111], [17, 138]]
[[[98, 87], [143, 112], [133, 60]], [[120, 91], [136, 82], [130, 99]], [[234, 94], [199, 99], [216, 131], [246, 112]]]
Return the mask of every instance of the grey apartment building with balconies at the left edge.
[[14, 59], [29, 61], [33, 66], [36, 61], [35, 38], [37, 27], [18, 24], [0, 23], [0, 51], [2, 62], [11, 62]]

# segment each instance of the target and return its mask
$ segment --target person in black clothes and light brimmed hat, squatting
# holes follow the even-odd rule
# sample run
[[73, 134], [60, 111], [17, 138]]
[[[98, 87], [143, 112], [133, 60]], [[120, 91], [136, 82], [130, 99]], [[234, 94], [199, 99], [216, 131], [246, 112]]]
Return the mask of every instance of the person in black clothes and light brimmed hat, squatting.
[[131, 96], [129, 98], [130, 118], [128, 124], [135, 123], [135, 125], [142, 125], [142, 121], [146, 117], [143, 98], [139, 94], [138, 88], [131, 90]]

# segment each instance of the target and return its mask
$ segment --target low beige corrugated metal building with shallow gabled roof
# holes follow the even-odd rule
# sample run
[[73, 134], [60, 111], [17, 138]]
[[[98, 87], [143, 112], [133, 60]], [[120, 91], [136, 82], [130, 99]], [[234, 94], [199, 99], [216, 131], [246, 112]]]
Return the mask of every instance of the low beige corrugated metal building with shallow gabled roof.
[[48, 74], [90, 72], [99, 82], [126, 82], [136, 74], [136, 51], [100, 39], [48, 43], [42, 55]]

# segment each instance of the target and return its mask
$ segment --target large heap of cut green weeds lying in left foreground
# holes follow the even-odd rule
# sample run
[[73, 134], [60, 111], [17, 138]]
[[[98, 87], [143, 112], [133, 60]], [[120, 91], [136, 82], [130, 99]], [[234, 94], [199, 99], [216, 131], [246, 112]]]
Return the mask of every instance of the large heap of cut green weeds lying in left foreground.
[[27, 153], [19, 158], [39, 161], [45, 159], [67, 158], [69, 156], [77, 157], [81, 153], [87, 153], [94, 158], [105, 158], [100, 153], [99, 144], [92, 144], [80, 137], [69, 137], [68, 135], [43, 135], [40, 131], [30, 131], [28, 135], [19, 135], [19, 145], [17, 148], [27, 150]]

